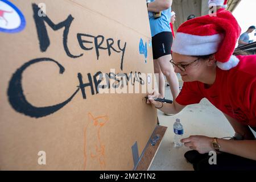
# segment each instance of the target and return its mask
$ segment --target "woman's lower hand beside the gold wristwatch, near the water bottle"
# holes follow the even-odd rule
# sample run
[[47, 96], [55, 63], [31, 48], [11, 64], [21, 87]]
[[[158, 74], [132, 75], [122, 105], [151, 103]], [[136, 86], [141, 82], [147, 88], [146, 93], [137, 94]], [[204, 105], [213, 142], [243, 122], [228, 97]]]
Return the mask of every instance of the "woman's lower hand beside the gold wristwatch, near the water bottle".
[[213, 138], [210, 137], [195, 135], [181, 139], [181, 142], [184, 143], [184, 146], [189, 147], [191, 150], [196, 150], [200, 154], [214, 151], [212, 148]]

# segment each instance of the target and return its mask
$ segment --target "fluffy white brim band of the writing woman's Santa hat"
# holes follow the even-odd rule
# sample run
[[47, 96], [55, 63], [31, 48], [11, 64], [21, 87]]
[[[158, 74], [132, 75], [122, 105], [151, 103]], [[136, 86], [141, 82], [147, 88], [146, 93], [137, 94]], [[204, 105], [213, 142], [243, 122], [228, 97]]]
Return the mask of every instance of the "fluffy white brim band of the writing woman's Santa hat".
[[218, 51], [223, 36], [221, 34], [199, 36], [177, 32], [172, 51], [180, 55], [205, 56]]

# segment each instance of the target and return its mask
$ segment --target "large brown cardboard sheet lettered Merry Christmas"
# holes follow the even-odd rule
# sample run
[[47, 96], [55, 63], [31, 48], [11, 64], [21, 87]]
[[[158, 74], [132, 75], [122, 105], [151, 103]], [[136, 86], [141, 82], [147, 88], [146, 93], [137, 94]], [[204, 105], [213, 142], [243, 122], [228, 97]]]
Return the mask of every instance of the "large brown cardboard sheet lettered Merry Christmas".
[[11, 12], [0, 14], [0, 169], [133, 169], [131, 146], [142, 154], [156, 110], [145, 93], [96, 87], [110, 72], [152, 82], [141, 76], [153, 73], [144, 1], [10, 2], [0, 1]]

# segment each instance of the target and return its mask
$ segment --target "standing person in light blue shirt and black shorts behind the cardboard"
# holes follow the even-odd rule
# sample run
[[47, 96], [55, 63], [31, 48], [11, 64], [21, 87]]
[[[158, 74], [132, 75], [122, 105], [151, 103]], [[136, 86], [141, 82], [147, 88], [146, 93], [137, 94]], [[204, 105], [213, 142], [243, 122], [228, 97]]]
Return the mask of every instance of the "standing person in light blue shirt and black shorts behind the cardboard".
[[[172, 32], [170, 27], [172, 0], [151, 0], [147, 1], [148, 18], [152, 36], [152, 52], [154, 59], [154, 72], [159, 74], [159, 98], [164, 98], [164, 76], [170, 84], [172, 97], [175, 100], [179, 94], [179, 81], [172, 67], [171, 45]], [[160, 12], [156, 18], [155, 13]]]

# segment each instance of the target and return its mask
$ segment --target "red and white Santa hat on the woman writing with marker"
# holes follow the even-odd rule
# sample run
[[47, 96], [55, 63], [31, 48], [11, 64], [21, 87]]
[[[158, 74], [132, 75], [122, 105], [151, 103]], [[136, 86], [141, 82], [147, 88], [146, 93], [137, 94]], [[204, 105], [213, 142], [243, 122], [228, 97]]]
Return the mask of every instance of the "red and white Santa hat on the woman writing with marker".
[[241, 28], [232, 13], [220, 9], [217, 16], [205, 15], [181, 24], [172, 44], [172, 52], [188, 56], [214, 53], [217, 66], [229, 70], [239, 63], [237, 57], [232, 55], [240, 33]]

